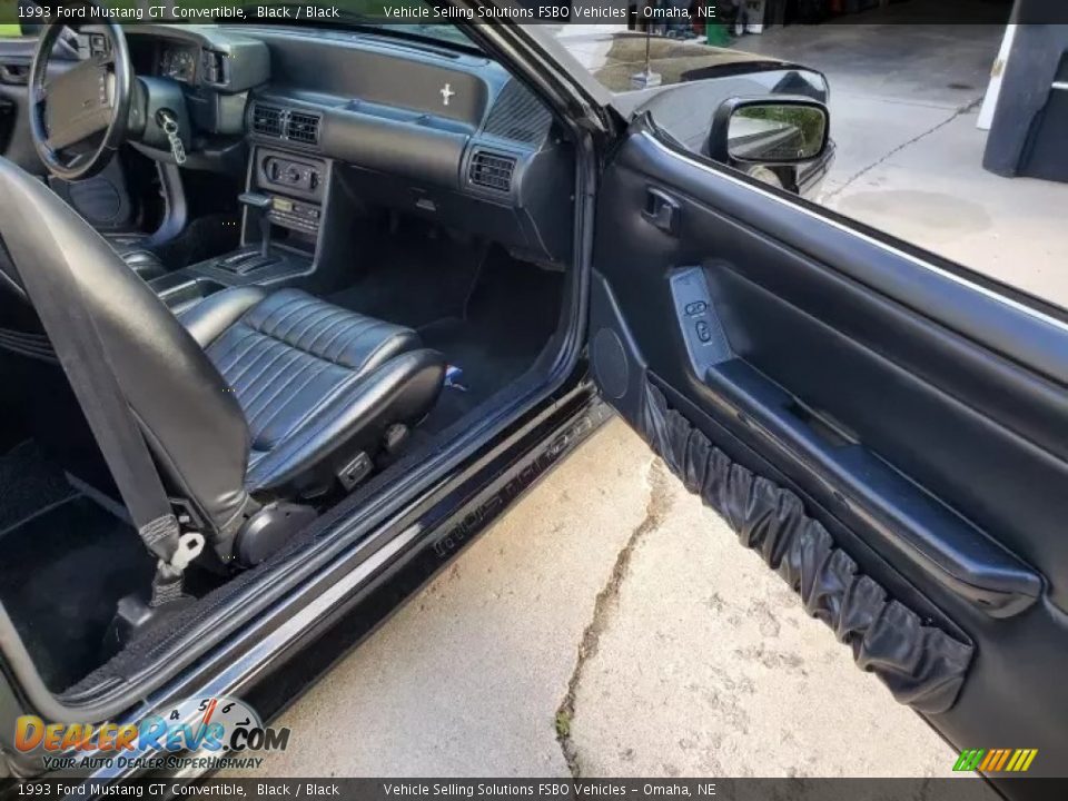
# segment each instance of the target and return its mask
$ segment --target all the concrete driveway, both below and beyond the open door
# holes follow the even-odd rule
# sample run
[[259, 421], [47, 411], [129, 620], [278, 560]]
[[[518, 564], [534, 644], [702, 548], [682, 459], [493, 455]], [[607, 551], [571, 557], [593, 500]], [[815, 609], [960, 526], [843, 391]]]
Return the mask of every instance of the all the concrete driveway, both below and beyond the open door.
[[[1068, 301], [1068, 187], [979, 168], [1000, 31], [918, 30], [888, 61], [908, 36], [881, 56], [872, 30], [742, 44], [828, 72], [827, 204]], [[281, 724], [278, 777], [933, 777], [956, 759], [617, 421]]]

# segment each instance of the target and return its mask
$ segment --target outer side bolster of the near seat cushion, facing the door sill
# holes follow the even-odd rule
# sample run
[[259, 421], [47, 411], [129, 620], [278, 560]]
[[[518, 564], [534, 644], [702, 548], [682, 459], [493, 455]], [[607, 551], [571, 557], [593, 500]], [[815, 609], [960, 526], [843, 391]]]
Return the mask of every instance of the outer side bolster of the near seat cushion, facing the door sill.
[[444, 385], [445, 357], [422, 348], [396, 356], [358, 380], [346, 382], [269, 452], [250, 459], [250, 493], [312, 495], [333, 484], [360, 452], [374, 454], [385, 429], [415, 425]]

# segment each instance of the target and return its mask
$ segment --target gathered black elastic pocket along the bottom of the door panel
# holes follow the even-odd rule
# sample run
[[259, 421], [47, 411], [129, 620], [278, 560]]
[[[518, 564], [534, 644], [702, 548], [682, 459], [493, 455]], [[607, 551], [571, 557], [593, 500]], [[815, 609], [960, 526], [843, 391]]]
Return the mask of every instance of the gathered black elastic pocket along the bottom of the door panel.
[[861, 575], [821, 523], [789, 490], [732, 462], [646, 379], [640, 433], [686, 488], [701, 496], [800, 594], [805, 611], [827, 623], [894, 699], [929, 714], [949, 710], [975, 647], [924, 625]]

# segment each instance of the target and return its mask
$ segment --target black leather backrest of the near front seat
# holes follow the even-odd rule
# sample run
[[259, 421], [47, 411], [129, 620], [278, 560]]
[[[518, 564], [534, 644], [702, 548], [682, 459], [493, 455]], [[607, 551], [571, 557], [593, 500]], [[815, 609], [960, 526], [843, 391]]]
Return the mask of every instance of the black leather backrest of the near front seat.
[[[228, 538], [250, 506], [249, 431], [200, 345], [108, 243], [30, 174], [0, 158], [0, 238], [18, 271], [77, 283], [170, 490]], [[6, 267], [10, 269], [10, 267]]]

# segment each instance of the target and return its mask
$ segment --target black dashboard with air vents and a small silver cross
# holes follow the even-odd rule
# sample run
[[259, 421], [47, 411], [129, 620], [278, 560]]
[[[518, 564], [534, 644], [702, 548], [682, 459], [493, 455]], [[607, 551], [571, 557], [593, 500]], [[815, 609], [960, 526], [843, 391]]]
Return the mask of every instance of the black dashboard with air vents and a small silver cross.
[[197, 169], [224, 169], [214, 154], [240, 147], [249, 188], [284, 204], [325, 215], [340, 184], [534, 260], [570, 251], [573, 150], [548, 109], [481, 53], [328, 28], [142, 24], [127, 36], [139, 78], [181, 87]]

